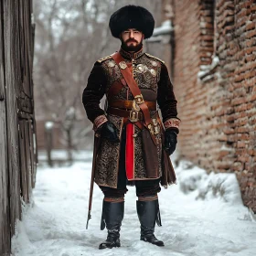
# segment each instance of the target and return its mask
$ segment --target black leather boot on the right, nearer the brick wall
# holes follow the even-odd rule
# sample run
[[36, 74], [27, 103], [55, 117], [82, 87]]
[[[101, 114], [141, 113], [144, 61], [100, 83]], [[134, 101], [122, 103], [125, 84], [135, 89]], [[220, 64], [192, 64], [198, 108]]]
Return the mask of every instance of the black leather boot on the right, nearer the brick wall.
[[165, 246], [164, 242], [157, 240], [154, 235], [155, 221], [158, 226], [162, 226], [158, 199], [154, 201], [137, 201], [137, 213], [141, 222], [141, 240], [157, 246]]

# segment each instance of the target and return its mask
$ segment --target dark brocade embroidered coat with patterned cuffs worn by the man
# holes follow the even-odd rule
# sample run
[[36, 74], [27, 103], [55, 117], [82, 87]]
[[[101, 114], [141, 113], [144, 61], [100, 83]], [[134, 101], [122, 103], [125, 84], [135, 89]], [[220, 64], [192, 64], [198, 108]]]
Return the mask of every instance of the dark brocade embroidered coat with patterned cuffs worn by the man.
[[[143, 50], [136, 53], [125, 52], [122, 48], [120, 53], [125, 59], [129, 69], [133, 72], [144, 101], [156, 101], [162, 115], [165, 129], [174, 129], [178, 133], [179, 119], [176, 112], [176, 97], [173, 85], [169, 79], [164, 61], [157, 59]], [[115, 82], [123, 84], [123, 88], [116, 95], [109, 95], [110, 89]], [[82, 101], [88, 118], [97, 130], [102, 123], [111, 121], [118, 130], [121, 138], [123, 132], [123, 117], [108, 114], [99, 106], [102, 97], [107, 99], [133, 101], [133, 94], [123, 80], [120, 68], [111, 56], [99, 59], [91, 70], [87, 87], [83, 91]], [[152, 118], [156, 118], [157, 111], [150, 112]], [[142, 149], [142, 136], [140, 129], [135, 127], [134, 137], [134, 171], [131, 180], [147, 179], [144, 168], [144, 155]], [[158, 177], [163, 175], [163, 133], [156, 135], [158, 155]], [[118, 168], [120, 157], [120, 143], [112, 143], [101, 138], [101, 147], [98, 151], [95, 163], [95, 182], [99, 186], [117, 187]], [[167, 185], [167, 184], [162, 184]]]

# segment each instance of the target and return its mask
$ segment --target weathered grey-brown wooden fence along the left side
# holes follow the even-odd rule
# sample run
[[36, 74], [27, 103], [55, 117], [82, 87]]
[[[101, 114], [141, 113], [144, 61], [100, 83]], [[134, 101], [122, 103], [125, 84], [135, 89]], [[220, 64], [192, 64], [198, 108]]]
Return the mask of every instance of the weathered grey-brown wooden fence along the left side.
[[0, 255], [10, 255], [37, 165], [32, 0], [0, 1]]

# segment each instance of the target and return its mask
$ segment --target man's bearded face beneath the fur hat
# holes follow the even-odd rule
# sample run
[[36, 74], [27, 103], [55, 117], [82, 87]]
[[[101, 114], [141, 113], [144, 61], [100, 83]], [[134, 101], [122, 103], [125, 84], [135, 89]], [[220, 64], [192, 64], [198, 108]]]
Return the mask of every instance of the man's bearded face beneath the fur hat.
[[122, 48], [126, 51], [138, 51], [143, 47], [144, 34], [135, 28], [121, 33]]

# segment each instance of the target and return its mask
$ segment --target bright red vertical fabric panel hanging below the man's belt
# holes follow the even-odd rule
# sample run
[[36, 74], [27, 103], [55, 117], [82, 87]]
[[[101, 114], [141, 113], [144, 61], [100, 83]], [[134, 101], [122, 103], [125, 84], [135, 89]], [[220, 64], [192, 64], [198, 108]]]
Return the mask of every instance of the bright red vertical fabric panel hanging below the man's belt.
[[125, 148], [125, 165], [126, 176], [128, 180], [134, 178], [134, 125], [128, 123], [126, 125], [126, 148]]

